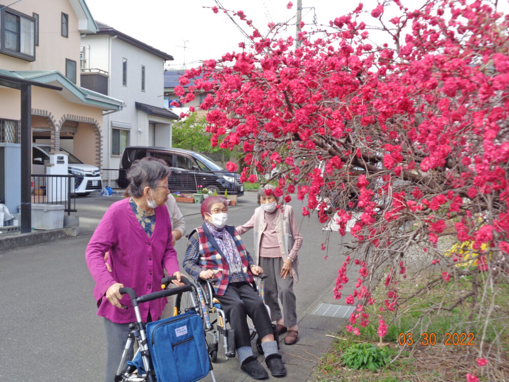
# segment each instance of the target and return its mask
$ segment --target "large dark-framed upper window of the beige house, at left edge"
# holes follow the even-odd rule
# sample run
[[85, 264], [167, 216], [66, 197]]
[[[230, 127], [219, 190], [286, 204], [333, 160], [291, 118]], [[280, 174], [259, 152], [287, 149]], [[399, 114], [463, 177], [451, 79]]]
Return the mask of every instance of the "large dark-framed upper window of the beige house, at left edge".
[[35, 61], [35, 18], [4, 7], [0, 20], [0, 52]]

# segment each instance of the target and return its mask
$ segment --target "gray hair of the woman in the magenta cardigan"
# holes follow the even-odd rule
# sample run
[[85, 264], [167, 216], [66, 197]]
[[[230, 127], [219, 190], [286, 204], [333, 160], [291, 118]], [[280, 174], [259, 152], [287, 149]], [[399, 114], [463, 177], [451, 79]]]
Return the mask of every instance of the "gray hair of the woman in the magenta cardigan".
[[127, 173], [129, 179], [129, 195], [134, 198], [143, 196], [147, 186], [156, 188], [161, 179], [169, 177], [172, 171], [160, 159], [145, 157], [135, 160]]

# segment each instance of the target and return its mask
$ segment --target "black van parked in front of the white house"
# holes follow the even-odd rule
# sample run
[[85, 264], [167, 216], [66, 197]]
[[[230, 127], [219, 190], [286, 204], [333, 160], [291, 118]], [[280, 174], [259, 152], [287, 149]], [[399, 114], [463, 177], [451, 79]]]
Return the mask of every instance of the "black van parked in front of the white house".
[[132, 162], [146, 156], [163, 159], [172, 168], [168, 187], [172, 192], [195, 193], [197, 186], [217, 190], [217, 195], [227, 190], [231, 195], [244, 195], [244, 185], [240, 175], [231, 173], [208, 156], [184, 149], [164, 147], [126, 147], [120, 161], [118, 185], [126, 188], [129, 185], [126, 174]]

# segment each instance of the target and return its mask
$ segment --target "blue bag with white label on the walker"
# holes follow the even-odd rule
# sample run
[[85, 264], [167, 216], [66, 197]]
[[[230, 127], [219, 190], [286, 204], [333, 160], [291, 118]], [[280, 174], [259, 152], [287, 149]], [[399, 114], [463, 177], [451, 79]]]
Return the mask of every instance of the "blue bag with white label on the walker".
[[146, 329], [158, 382], [194, 382], [209, 373], [203, 321], [195, 312], [148, 322]]

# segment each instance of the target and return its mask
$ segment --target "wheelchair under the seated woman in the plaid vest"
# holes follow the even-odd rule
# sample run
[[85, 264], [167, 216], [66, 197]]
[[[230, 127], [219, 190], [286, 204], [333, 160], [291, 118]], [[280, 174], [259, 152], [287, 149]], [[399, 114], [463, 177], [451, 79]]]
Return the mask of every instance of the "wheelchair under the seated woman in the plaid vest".
[[[264, 304], [265, 296], [263, 280], [266, 278], [267, 275], [264, 274], [254, 276], [255, 281], [251, 284], [254, 291], [256, 291], [262, 298]], [[256, 279], [259, 279], [258, 283], [256, 282]], [[192, 291], [194, 293], [192, 296], [193, 298], [189, 298], [190, 296], [185, 293], [177, 294], [174, 315], [188, 311], [195, 311], [196, 314], [199, 314], [202, 317], [205, 333], [212, 337], [211, 340], [207, 343], [211, 362], [215, 363], [217, 361], [217, 353], [219, 348], [218, 345], [221, 341], [221, 336], [224, 346], [225, 359], [228, 360], [229, 358], [234, 358], [236, 355], [234, 331], [233, 329], [228, 328], [229, 325], [224, 310], [221, 309], [221, 304], [219, 301], [213, 297], [214, 289], [212, 285], [215, 284], [217, 280], [200, 279], [199, 283], [197, 284], [191, 279], [189, 281], [196, 286], [196, 288]], [[258, 286], [258, 284], [260, 284], [260, 286]], [[194, 304], [192, 300], [197, 303]], [[267, 305], [265, 305], [265, 308], [267, 309], [270, 317], [270, 308]], [[257, 338], [257, 333], [249, 316], [247, 317], [247, 326], [249, 328], [249, 339], [252, 341]], [[272, 324], [272, 332], [274, 334], [274, 340], [277, 343], [277, 348], [279, 349], [278, 335], [276, 325], [274, 324]], [[256, 349], [259, 354], [264, 353], [260, 338], [257, 338]]]

